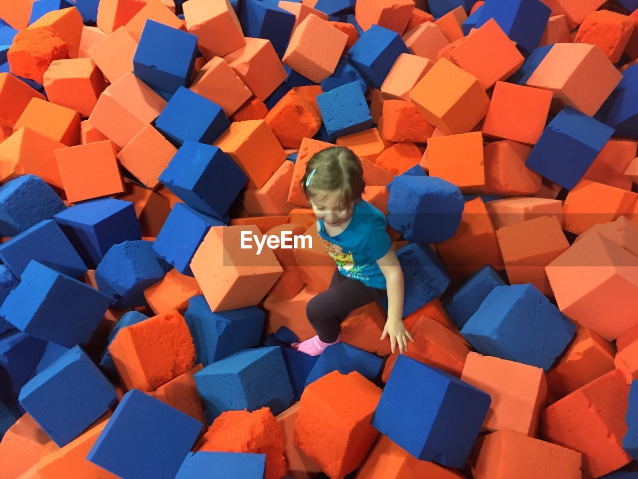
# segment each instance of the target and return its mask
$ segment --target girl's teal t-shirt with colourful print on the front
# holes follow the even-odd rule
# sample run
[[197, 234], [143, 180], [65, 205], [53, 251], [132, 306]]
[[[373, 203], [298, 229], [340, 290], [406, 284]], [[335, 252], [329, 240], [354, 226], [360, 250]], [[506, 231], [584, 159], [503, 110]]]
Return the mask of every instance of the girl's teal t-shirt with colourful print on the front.
[[392, 246], [385, 231], [387, 224], [382, 211], [360, 199], [354, 204], [352, 218], [345, 230], [336, 236], [328, 236], [323, 220], [317, 220], [317, 230], [327, 253], [337, 263], [339, 273], [367, 286], [386, 289], [385, 276], [376, 261]]

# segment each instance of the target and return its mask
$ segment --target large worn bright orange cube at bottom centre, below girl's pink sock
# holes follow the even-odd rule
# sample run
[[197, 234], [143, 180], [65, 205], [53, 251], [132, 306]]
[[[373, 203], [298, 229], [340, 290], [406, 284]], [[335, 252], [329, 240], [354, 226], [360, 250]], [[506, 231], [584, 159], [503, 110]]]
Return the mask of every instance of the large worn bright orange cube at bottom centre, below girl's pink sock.
[[293, 442], [327, 476], [345, 476], [362, 464], [379, 435], [371, 422], [380, 398], [380, 388], [359, 372], [320, 377], [301, 396]]

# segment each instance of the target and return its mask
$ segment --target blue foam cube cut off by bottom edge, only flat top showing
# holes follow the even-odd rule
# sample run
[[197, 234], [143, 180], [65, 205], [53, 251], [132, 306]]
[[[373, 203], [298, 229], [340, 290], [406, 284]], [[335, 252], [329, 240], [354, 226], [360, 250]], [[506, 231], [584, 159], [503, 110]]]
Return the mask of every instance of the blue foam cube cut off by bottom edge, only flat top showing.
[[175, 479], [263, 479], [266, 455], [243, 452], [189, 452]]

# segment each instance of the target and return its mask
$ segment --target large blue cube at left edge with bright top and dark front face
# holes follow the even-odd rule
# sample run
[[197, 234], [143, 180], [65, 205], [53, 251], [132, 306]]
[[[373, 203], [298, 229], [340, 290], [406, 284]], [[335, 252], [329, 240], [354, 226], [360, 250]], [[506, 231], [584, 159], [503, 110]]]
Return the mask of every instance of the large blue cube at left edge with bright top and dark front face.
[[0, 306], [20, 331], [66, 347], [87, 342], [110, 298], [59, 271], [31, 261], [22, 281]]

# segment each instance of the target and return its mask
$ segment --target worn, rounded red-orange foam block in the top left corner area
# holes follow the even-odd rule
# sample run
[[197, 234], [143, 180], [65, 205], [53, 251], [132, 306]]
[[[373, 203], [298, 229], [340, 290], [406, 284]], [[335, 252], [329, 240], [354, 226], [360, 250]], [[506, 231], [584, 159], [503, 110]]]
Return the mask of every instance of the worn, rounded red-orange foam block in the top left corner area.
[[9, 71], [13, 75], [42, 84], [44, 72], [54, 60], [68, 56], [68, 45], [47, 28], [19, 31], [6, 52]]

